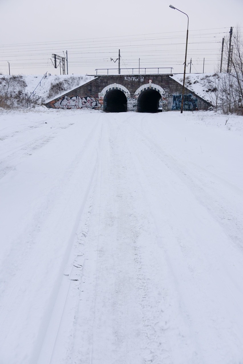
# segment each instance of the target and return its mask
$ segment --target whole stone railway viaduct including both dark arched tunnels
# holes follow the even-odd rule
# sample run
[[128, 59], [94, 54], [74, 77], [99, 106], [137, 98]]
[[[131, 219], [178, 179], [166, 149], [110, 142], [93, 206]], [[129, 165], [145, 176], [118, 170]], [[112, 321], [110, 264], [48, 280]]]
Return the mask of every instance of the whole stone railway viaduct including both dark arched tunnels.
[[[93, 108], [107, 112], [157, 112], [181, 108], [182, 85], [171, 76], [98, 75], [46, 103], [50, 108]], [[185, 88], [184, 110], [207, 110], [206, 100]]]

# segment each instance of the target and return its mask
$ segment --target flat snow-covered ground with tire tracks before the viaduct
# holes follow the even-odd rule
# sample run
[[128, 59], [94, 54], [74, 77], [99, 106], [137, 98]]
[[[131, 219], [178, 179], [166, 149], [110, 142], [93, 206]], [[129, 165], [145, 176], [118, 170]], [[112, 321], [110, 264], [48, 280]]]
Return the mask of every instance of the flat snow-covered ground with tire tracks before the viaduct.
[[39, 110], [0, 111], [0, 363], [243, 363], [243, 118]]

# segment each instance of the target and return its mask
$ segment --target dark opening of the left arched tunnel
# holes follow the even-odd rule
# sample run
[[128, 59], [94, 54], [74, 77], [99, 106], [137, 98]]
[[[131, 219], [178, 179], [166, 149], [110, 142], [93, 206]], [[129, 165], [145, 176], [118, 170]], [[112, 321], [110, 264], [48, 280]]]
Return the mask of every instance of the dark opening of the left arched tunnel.
[[121, 90], [110, 90], [103, 99], [103, 110], [106, 112], [128, 111], [128, 100]]

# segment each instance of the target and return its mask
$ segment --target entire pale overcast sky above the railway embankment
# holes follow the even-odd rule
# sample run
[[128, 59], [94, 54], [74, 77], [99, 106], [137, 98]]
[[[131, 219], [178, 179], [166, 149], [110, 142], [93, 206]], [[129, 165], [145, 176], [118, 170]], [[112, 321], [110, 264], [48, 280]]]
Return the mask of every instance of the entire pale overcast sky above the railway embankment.
[[[59, 74], [51, 54], [62, 56], [68, 50], [68, 73], [92, 74], [95, 68], [118, 67], [110, 58], [115, 60], [121, 48], [121, 67], [138, 67], [140, 58], [141, 67], [183, 72], [187, 17], [169, 8], [170, 1], [189, 16], [187, 62], [192, 57], [192, 72], [202, 72], [204, 57], [204, 71], [213, 71], [223, 36], [231, 26], [242, 25], [243, 0], [0, 0], [0, 71], [8, 72], [9, 61], [13, 74]], [[113, 43], [111, 37], [116, 37]], [[15, 46], [6, 46], [11, 44]]]

